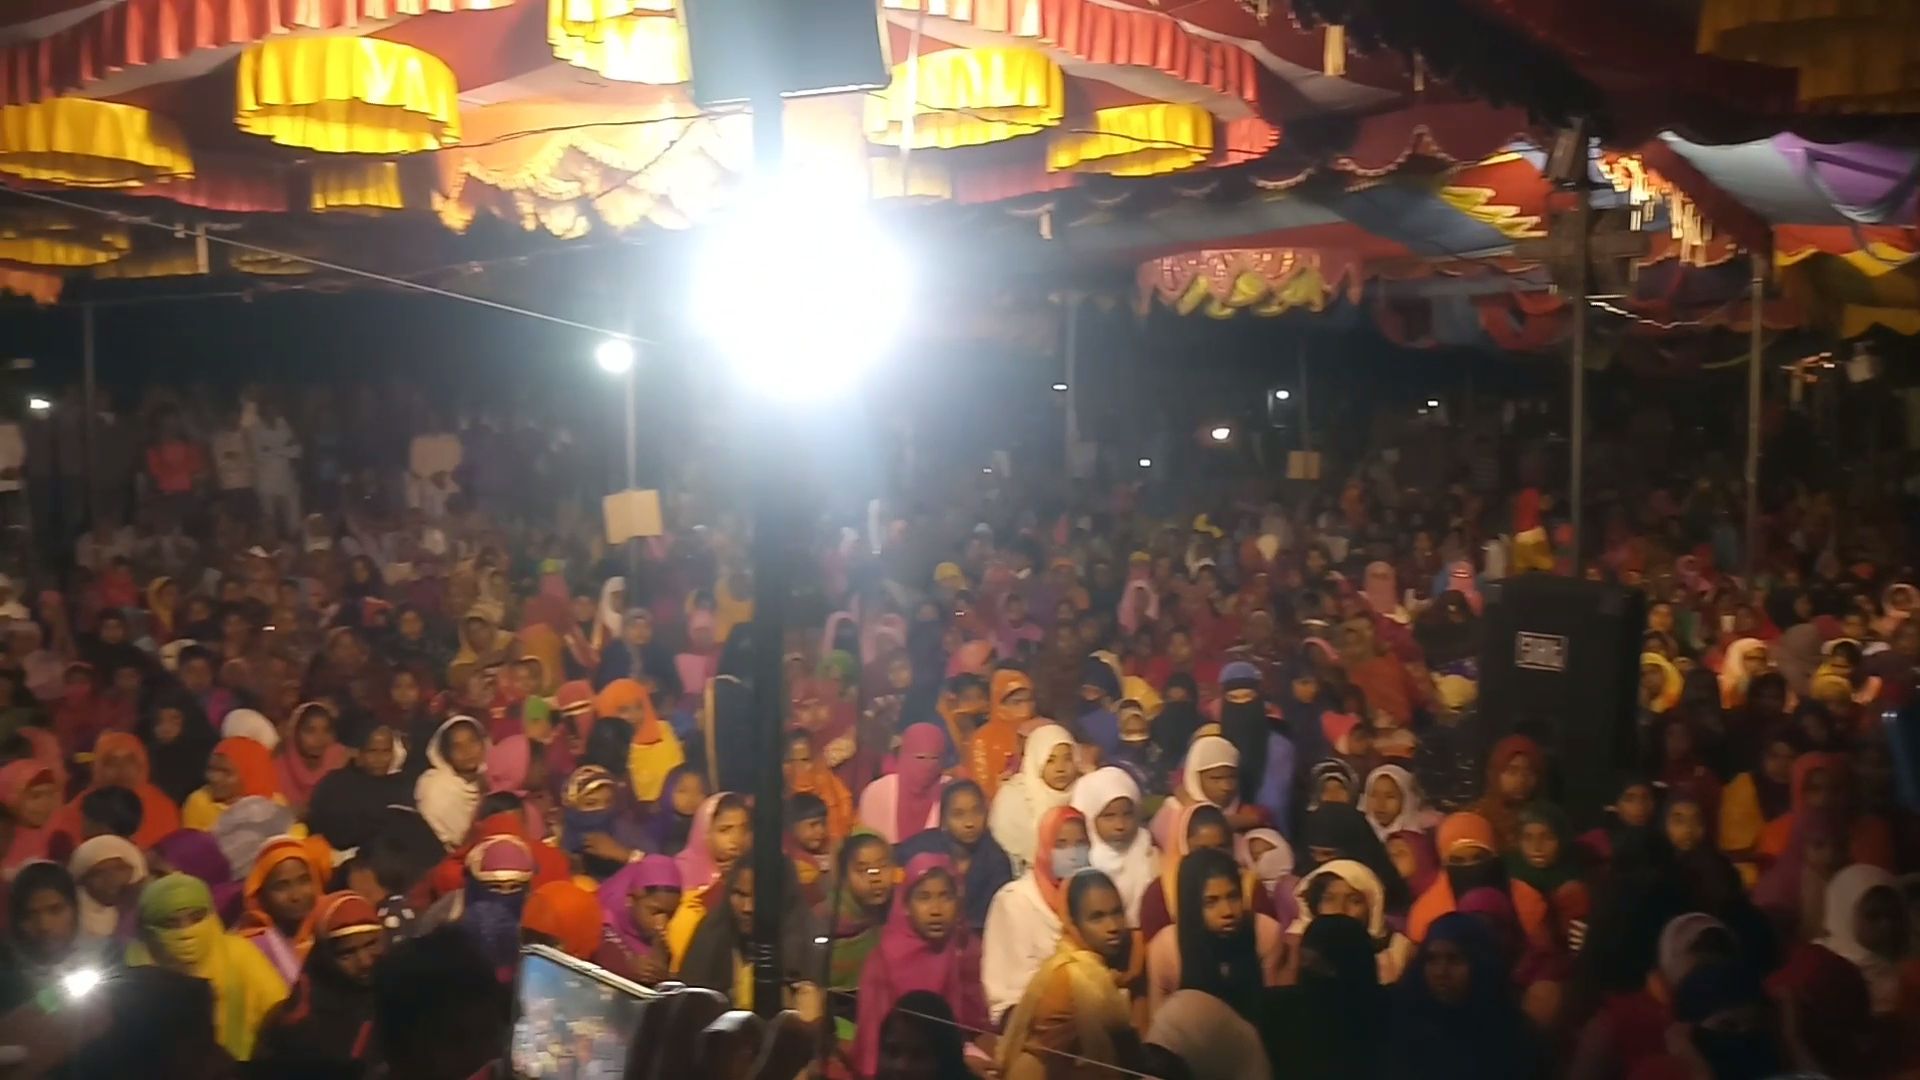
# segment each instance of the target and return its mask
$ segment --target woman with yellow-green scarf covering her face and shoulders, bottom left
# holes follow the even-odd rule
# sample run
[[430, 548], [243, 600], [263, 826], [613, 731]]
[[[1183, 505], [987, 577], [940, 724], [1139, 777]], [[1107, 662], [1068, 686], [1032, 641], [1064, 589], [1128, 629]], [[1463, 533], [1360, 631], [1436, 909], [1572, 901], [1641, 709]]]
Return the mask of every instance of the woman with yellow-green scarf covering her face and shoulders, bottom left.
[[213, 1038], [234, 1061], [252, 1061], [261, 1020], [282, 999], [286, 980], [259, 949], [221, 930], [205, 882], [167, 874], [140, 892], [140, 940], [131, 967], [157, 965], [213, 988]]

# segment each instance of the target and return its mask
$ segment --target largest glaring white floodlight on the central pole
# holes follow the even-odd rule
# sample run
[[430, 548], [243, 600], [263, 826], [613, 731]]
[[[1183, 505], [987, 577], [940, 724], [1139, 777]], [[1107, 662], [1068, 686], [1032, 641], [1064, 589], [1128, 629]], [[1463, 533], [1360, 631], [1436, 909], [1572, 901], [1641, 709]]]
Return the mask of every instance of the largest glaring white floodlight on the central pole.
[[806, 175], [778, 177], [714, 223], [695, 256], [695, 329], [741, 384], [824, 400], [897, 336], [912, 296], [904, 252], [864, 200]]

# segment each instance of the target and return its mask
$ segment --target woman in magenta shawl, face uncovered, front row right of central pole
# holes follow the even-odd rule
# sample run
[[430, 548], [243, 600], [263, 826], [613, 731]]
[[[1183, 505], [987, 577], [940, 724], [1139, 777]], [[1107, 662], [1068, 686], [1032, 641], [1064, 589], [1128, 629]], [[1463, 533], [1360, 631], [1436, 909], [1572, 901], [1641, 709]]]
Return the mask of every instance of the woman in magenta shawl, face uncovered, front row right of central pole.
[[852, 1063], [858, 1076], [879, 1070], [879, 1028], [906, 994], [939, 994], [962, 1030], [987, 1028], [979, 984], [979, 940], [960, 919], [960, 878], [947, 855], [914, 855], [893, 892], [879, 945], [860, 969]]

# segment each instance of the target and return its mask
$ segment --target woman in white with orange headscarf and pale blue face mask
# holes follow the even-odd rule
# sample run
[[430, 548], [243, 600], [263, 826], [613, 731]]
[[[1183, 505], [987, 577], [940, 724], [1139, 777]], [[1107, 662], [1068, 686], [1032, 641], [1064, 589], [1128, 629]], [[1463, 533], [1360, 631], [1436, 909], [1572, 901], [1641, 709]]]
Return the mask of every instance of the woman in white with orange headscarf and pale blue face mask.
[[1060, 947], [1060, 886], [1091, 859], [1087, 819], [1069, 805], [1048, 809], [1035, 828], [1035, 849], [1041, 859], [995, 894], [987, 909], [981, 984], [995, 1024], [1020, 1003], [1033, 972]]

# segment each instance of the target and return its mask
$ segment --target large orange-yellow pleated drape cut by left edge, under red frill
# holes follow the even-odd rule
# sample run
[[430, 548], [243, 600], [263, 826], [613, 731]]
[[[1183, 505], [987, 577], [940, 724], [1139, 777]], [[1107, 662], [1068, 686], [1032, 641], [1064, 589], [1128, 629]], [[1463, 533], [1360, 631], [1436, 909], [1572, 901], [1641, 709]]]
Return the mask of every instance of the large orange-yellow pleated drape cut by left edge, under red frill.
[[138, 106], [52, 98], [0, 108], [0, 173], [90, 188], [186, 181], [194, 154], [173, 121]]

